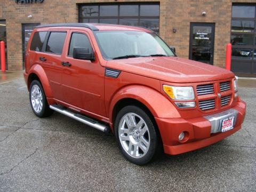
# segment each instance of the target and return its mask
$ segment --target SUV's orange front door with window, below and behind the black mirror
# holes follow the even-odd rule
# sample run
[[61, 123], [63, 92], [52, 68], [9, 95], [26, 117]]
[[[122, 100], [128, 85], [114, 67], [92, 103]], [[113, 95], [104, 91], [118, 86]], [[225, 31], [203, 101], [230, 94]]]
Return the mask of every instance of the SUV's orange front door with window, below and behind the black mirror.
[[106, 116], [104, 103], [105, 68], [95, 61], [73, 58], [74, 47], [94, 47], [85, 30], [70, 30], [63, 54], [62, 90], [63, 101], [93, 114]]

